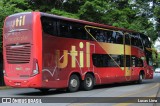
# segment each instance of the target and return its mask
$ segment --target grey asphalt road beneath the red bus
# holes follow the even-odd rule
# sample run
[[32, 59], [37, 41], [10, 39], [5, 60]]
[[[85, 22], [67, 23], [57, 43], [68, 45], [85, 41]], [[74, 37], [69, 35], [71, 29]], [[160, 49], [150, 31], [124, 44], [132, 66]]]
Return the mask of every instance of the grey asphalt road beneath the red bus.
[[[96, 86], [91, 91], [78, 91], [68, 93], [64, 90], [50, 90], [48, 93], [41, 93], [36, 89], [13, 88], [0, 90], [0, 97], [42, 97], [45, 100], [59, 100], [61, 103], [38, 103], [23, 104], [23, 106], [160, 106], [160, 103], [153, 103], [148, 98], [160, 97], [160, 73], [154, 74], [154, 79], [144, 80], [142, 84], [123, 83]], [[47, 98], [54, 97], [54, 98]], [[132, 98], [135, 97], [135, 98]], [[53, 99], [53, 100], [52, 100]], [[69, 100], [69, 103], [62, 103]], [[89, 102], [86, 102], [86, 101]], [[154, 99], [153, 99], [154, 100]], [[155, 99], [156, 102], [157, 99]], [[107, 102], [106, 102], [107, 101]], [[120, 102], [119, 102], [120, 101]], [[127, 103], [121, 103], [121, 102]], [[146, 101], [146, 103], [133, 103], [133, 101]], [[111, 103], [110, 103], [111, 102]], [[115, 103], [118, 102], [118, 103]], [[152, 103], [151, 103], [152, 102]], [[21, 106], [22, 104], [3, 104], [0, 106]]]

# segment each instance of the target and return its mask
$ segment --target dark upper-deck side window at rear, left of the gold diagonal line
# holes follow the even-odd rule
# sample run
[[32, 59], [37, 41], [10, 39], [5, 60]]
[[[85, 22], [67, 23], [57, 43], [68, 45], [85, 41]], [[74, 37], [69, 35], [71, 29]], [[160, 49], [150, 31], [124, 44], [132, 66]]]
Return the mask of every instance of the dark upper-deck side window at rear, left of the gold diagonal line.
[[52, 17], [41, 17], [43, 32], [53, 36], [75, 38], [75, 39], [89, 39], [86, 35], [84, 25], [80, 23], [73, 23], [63, 21]]

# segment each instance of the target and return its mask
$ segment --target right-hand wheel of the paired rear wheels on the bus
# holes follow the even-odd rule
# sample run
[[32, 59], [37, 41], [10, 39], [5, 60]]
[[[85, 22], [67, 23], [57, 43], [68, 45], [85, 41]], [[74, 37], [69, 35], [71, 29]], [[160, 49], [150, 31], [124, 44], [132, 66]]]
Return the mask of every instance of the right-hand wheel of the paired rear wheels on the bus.
[[83, 90], [91, 90], [94, 87], [94, 77], [91, 74], [86, 74], [84, 81], [82, 81]]

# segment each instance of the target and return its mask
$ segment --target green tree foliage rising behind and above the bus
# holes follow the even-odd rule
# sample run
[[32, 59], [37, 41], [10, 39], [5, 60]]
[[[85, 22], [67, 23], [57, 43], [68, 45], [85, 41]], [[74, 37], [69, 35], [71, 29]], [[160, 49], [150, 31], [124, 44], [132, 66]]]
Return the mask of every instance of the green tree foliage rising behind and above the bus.
[[[0, 11], [0, 35], [5, 17], [23, 11], [41, 11], [127, 28], [145, 33], [153, 41], [160, 31], [160, 0], [0, 0]], [[156, 19], [156, 25], [148, 21], [150, 18]]]

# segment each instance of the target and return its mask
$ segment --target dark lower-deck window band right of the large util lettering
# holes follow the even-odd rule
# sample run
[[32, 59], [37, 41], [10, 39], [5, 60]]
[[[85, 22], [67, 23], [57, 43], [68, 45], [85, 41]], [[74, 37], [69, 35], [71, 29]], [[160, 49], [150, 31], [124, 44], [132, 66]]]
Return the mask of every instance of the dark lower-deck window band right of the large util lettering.
[[[133, 58], [133, 57], [132, 57]], [[142, 60], [138, 60], [136, 57], [133, 59], [130, 55], [107, 55], [107, 54], [93, 54], [93, 65], [96, 67], [131, 67], [134, 66], [141, 66], [143, 65]], [[124, 61], [125, 60], [125, 61]], [[125, 64], [124, 64], [125, 62]]]

